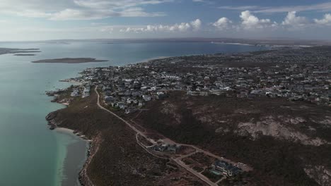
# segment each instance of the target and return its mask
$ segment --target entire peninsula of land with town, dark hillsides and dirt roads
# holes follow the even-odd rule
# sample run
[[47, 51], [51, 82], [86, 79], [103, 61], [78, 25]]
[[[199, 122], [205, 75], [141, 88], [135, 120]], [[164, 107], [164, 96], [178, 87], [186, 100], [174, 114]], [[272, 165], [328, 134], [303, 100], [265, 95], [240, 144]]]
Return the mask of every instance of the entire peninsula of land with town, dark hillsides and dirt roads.
[[91, 140], [83, 185], [330, 185], [330, 49], [88, 68], [47, 120]]

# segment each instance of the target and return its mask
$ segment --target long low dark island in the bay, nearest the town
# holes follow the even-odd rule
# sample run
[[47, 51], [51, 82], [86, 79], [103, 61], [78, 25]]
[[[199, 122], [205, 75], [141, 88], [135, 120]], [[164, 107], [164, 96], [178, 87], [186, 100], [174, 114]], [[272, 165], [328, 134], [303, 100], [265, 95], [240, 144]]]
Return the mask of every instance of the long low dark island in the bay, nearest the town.
[[108, 60], [98, 60], [95, 58], [53, 58], [32, 61], [32, 63], [90, 63], [90, 62], [105, 62]]

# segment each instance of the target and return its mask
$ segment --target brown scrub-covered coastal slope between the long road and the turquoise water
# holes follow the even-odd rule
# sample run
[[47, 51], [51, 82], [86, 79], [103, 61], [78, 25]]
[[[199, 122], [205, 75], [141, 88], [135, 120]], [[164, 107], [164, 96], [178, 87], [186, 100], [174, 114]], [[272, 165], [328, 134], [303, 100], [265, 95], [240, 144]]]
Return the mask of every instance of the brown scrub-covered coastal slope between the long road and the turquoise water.
[[[62, 92], [58, 99], [68, 96], [69, 92]], [[172, 161], [147, 153], [137, 144], [134, 132], [96, 102], [94, 92], [47, 117], [57, 127], [79, 131], [93, 140], [80, 174], [83, 185], [205, 185]]]

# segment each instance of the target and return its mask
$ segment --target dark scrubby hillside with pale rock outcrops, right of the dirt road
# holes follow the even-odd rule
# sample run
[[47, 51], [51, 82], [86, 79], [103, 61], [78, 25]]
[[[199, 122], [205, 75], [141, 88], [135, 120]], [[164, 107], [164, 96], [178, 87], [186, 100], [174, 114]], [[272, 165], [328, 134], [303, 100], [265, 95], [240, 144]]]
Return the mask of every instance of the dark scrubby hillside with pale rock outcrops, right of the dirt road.
[[257, 185], [330, 185], [331, 111], [325, 106], [174, 92], [146, 108], [137, 123], [248, 163]]

